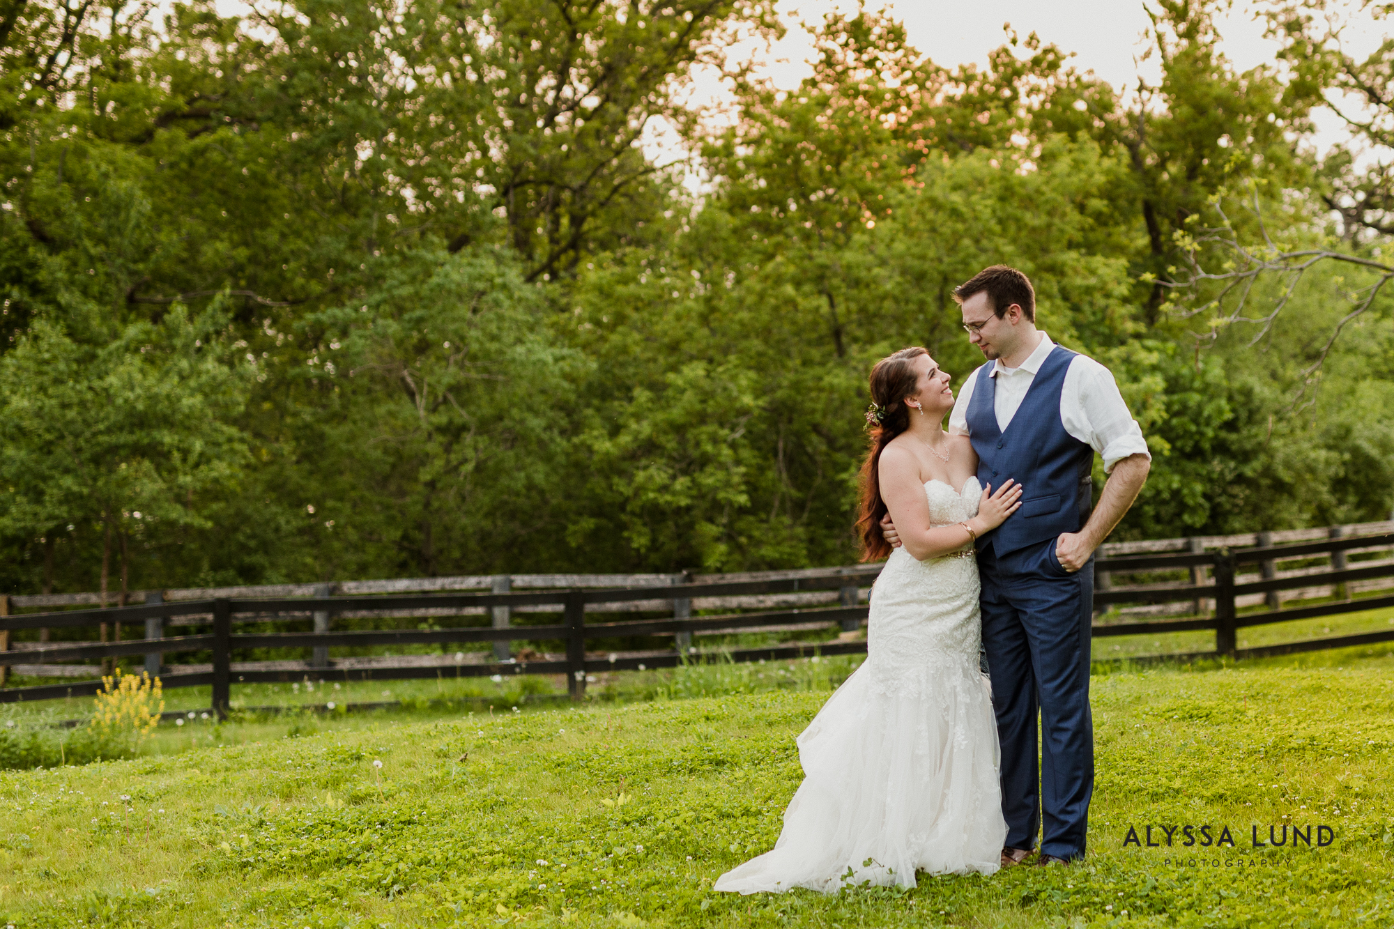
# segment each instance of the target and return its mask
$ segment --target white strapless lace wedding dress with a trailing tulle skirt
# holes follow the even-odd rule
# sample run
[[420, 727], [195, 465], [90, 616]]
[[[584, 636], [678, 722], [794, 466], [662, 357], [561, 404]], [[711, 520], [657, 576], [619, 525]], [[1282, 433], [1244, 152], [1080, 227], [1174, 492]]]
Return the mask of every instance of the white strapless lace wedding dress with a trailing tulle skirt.
[[[924, 492], [935, 526], [977, 515], [983, 494], [976, 477], [962, 494], [938, 480]], [[980, 642], [977, 561], [896, 548], [871, 589], [867, 660], [799, 737], [804, 781], [779, 841], [715, 889], [836, 893], [913, 887], [917, 870], [995, 872], [1006, 822]]]

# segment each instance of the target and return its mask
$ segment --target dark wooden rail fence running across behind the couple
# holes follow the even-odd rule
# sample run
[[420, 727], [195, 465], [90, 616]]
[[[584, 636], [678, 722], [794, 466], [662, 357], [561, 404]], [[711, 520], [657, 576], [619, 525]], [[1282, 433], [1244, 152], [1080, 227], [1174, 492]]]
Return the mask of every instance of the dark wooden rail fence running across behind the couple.
[[[1094, 603], [1100, 621], [1093, 626], [1094, 636], [1129, 636], [1160, 632], [1206, 630], [1216, 633], [1214, 651], [1184, 656], [1160, 656], [1171, 658], [1196, 657], [1260, 657], [1361, 646], [1394, 640], [1394, 629], [1366, 635], [1341, 636], [1291, 642], [1257, 649], [1236, 649], [1236, 630], [1274, 622], [1291, 622], [1313, 617], [1328, 617], [1351, 611], [1394, 607], [1394, 580], [1388, 584], [1374, 583], [1388, 593], [1374, 591], [1374, 596], [1352, 596], [1359, 587], [1366, 593], [1376, 579], [1394, 579], [1394, 558], [1383, 555], [1394, 550], [1394, 533], [1362, 537], [1333, 537], [1316, 541], [1302, 541], [1287, 545], [1259, 545], [1252, 548], [1228, 548], [1217, 551], [1182, 551], [1142, 555], [1114, 555], [1096, 561]], [[1349, 562], [1348, 557], [1365, 561]], [[1281, 564], [1299, 565], [1295, 571], [1280, 572]], [[1312, 565], [1312, 562], [1324, 562]], [[22, 656], [25, 663], [52, 665], [54, 663], [100, 658], [105, 661], [128, 656], [146, 656], [146, 667], [162, 671], [164, 688], [212, 686], [213, 709], [226, 713], [231, 685], [298, 681], [314, 675], [316, 679], [408, 679], [438, 677], [484, 677], [498, 674], [563, 674], [573, 699], [585, 695], [587, 678], [605, 671], [636, 668], [675, 667], [684, 661], [710, 657], [711, 651], [700, 651], [690, 646], [691, 636], [732, 635], [749, 630], [781, 629], [828, 629], [839, 628], [843, 635], [828, 642], [788, 642], [753, 649], [719, 651], [723, 660], [756, 661], [778, 660], [821, 654], [855, 654], [866, 651], [866, 642], [855, 633], [867, 618], [866, 587], [875, 579], [880, 565], [857, 568], [836, 568], [827, 571], [768, 572], [765, 576], [744, 575], [740, 579], [697, 580], [691, 583], [669, 583], [666, 586], [619, 586], [601, 589], [553, 589], [491, 593], [428, 593], [388, 596], [318, 596], [318, 597], [212, 597], [204, 600], [183, 600], [159, 603], [159, 597], [141, 605], [112, 607], [98, 610], [71, 610], [59, 612], [31, 612], [22, 615], [0, 615], [0, 636], [8, 640], [17, 633], [29, 635], [36, 629], [95, 628], [99, 624], [145, 622], [151, 637], [127, 642], [82, 642], [82, 643], [33, 643], [10, 653]], [[1246, 579], [1245, 575], [1256, 575]], [[1278, 576], [1278, 575], [1285, 576]], [[1175, 580], [1177, 575], [1188, 576]], [[1121, 586], [1119, 579], [1133, 583]], [[495, 584], [498, 587], [499, 584]], [[506, 587], [506, 584], [503, 584]], [[834, 593], [835, 591], [835, 593]], [[1322, 603], [1308, 600], [1306, 605], [1281, 607], [1281, 591], [1299, 591], [1303, 596], [1326, 596]], [[1330, 598], [1334, 594], [1334, 598]], [[838, 604], [817, 605], [821, 598], [836, 597]], [[1267, 608], [1260, 612], [1242, 612], [1241, 603], [1260, 596]], [[802, 601], [814, 605], [736, 611], [722, 604], [749, 607], [753, 600], [765, 597], [771, 601]], [[693, 603], [715, 604], [700, 615], [691, 615]], [[1133, 611], [1143, 608], [1167, 608], [1179, 604], [1193, 614], [1186, 618], [1129, 621], [1121, 614], [1121, 607]], [[1189, 604], [1189, 605], [1188, 605]], [[1210, 607], [1213, 604], [1213, 608]], [[672, 611], [666, 618], [622, 618], [626, 610], [636, 607], [665, 607]], [[560, 614], [560, 622], [544, 625], [461, 625], [454, 628], [413, 628], [413, 629], [367, 629], [333, 630], [336, 617], [354, 618], [421, 618], [431, 617], [474, 617], [495, 619], [499, 611], [552, 611]], [[592, 619], [587, 621], [587, 612]], [[1204, 614], [1204, 615], [1200, 615]], [[620, 618], [616, 618], [620, 617]], [[1121, 618], [1121, 621], [1119, 621]], [[268, 622], [312, 622], [311, 632], [268, 632]], [[256, 626], [263, 626], [256, 629]], [[164, 636], [164, 628], [183, 628], [185, 635]], [[636, 637], [672, 637], [673, 644], [665, 649], [641, 651], [601, 651], [595, 646], [609, 640], [633, 640]], [[328, 658], [332, 647], [362, 646], [404, 646], [404, 644], [478, 644], [500, 642], [527, 642], [531, 649], [520, 653], [520, 658], [493, 661], [464, 661], [459, 653], [454, 663], [449, 658], [432, 664], [378, 664], [375, 667], [335, 667]], [[563, 651], [549, 654], [548, 644], [562, 643]], [[588, 649], [588, 646], [591, 646]], [[304, 650], [309, 649], [315, 658], [311, 663], [287, 667], [266, 667], [275, 663], [234, 661], [238, 651], [252, 649]], [[181, 670], [180, 664], [162, 665], [159, 656], [204, 653], [212, 656], [212, 665]], [[531, 656], [531, 657], [530, 657]], [[471, 658], [478, 653], [471, 653]], [[151, 664], [153, 660], [153, 664]], [[18, 700], [45, 700], [66, 696], [92, 695], [100, 689], [99, 679], [46, 683], [36, 686], [0, 688], [0, 703]]]

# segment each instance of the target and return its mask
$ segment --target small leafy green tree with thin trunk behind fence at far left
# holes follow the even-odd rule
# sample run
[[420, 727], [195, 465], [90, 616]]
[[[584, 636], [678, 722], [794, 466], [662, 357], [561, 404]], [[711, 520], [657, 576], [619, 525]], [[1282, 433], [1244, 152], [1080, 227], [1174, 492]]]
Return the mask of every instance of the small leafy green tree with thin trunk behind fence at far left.
[[180, 305], [159, 324], [85, 338], [33, 322], [0, 357], [4, 530], [93, 527], [103, 598], [114, 555], [124, 600], [132, 548], [158, 551], [180, 529], [208, 526], [201, 497], [226, 490], [245, 459], [227, 424], [245, 378], [227, 364], [222, 324], [217, 312], [190, 318]]

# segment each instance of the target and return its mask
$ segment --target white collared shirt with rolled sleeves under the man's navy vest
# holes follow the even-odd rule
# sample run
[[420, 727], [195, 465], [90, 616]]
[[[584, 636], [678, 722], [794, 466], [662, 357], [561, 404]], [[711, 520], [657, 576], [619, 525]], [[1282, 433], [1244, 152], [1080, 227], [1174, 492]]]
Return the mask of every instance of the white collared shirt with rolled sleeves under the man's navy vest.
[[[1022, 361], [1022, 367], [1008, 368], [1001, 358], [991, 363], [993, 370], [988, 377], [997, 378], [997, 392], [993, 396], [997, 428], [1006, 431], [1026, 391], [1036, 379], [1036, 372], [1041, 370], [1041, 364], [1054, 347], [1055, 343], [1050, 336], [1041, 332], [1041, 343]], [[959, 388], [953, 411], [949, 413], [952, 435], [970, 434], [967, 406], [973, 402], [973, 388], [981, 370], [973, 371]], [[1151, 459], [1147, 439], [1142, 437], [1142, 427], [1128, 411], [1112, 372], [1090, 357], [1076, 354], [1071, 358], [1059, 392], [1059, 420], [1066, 432], [1104, 456], [1105, 471], [1114, 470], [1114, 464], [1129, 455], [1146, 455], [1149, 460]]]

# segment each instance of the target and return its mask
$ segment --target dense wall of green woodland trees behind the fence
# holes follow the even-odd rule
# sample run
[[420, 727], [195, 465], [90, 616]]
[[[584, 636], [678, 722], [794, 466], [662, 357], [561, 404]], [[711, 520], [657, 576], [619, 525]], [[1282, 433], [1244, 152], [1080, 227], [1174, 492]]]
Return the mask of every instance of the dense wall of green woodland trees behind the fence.
[[781, 91], [732, 52], [764, 0], [4, 6], [0, 586], [846, 564], [866, 371], [966, 377], [951, 292], [993, 262], [1149, 437], [1118, 537], [1383, 518], [1386, 297], [1327, 345], [1370, 282], [1316, 272], [1248, 346], [1165, 296], [1221, 208], [1377, 259], [1381, 176], [1306, 142], [1390, 53], [1274, 3], [1284, 64], [1239, 71], [1223, 6], [1149, 7], [1138, 95], [866, 10]]

